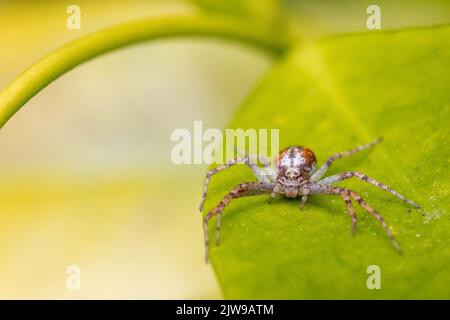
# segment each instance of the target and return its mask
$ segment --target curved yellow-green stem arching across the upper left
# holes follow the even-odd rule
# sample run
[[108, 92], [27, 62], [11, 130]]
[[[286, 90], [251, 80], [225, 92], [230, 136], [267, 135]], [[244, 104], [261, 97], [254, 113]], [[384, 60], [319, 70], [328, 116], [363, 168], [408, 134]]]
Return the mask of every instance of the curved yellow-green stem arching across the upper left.
[[207, 36], [237, 40], [277, 54], [287, 48], [281, 34], [267, 25], [204, 14], [149, 18], [94, 32], [50, 53], [0, 92], [0, 128], [50, 82], [103, 53], [150, 39]]

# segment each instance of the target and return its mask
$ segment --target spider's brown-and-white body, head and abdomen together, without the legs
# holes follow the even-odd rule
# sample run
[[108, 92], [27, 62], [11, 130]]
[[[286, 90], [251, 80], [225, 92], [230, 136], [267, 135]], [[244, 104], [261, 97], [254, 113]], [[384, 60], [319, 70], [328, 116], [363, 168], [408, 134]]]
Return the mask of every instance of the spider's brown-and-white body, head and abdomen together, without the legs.
[[274, 193], [295, 198], [316, 169], [316, 156], [308, 148], [292, 146], [279, 152], [275, 165], [278, 174]]

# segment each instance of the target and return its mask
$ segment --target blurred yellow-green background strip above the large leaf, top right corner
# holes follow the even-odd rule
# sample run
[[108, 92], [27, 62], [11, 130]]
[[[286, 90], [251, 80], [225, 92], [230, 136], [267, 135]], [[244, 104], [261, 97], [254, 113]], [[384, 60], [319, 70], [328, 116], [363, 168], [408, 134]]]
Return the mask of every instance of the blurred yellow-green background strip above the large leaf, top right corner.
[[[382, 29], [450, 22], [447, 0], [281, 0], [291, 26], [303, 38], [367, 31], [370, 5], [380, 8]], [[372, 12], [372, 11], [370, 11]], [[289, 18], [288, 18], [289, 17]]]

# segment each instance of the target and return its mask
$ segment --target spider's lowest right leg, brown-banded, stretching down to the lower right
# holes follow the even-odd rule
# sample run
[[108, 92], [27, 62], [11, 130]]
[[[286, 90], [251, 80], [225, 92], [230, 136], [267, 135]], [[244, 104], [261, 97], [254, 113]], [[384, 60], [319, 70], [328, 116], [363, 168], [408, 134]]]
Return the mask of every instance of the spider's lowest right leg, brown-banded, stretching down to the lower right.
[[[384, 231], [386, 232], [387, 236], [391, 240], [391, 243], [394, 246], [395, 250], [397, 250], [397, 252], [399, 254], [402, 253], [402, 251], [400, 249], [400, 245], [395, 240], [394, 235], [392, 234], [388, 225], [384, 221], [383, 217], [375, 209], [373, 209], [371, 206], [369, 206], [367, 204], [367, 202], [365, 202], [364, 199], [358, 193], [356, 193], [355, 191], [352, 191], [352, 190], [345, 189], [345, 188], [332, 187], [329, 185], [322, 185], [322, 184], [311, 184], [309, 187], [310, 187], [312, 193], [315, 193], [315, 194], [340, 194], [342, 197], [343, 197], [343, 193], [347, 193], [347, 195], [349, 194], [356, 202], [358, 202], [358, 204], [362, 208], [364, 208], [367, 212], [369, 212], [375, 219], [377, 219], [380, 222], [380, 224], [384, 228]], [[346, 204], [347, 204], [347, 208], [349, 208], [347, 201], [346, 201]], [[351, 212], [351, 211], [349, 211], [349, 212]]]

